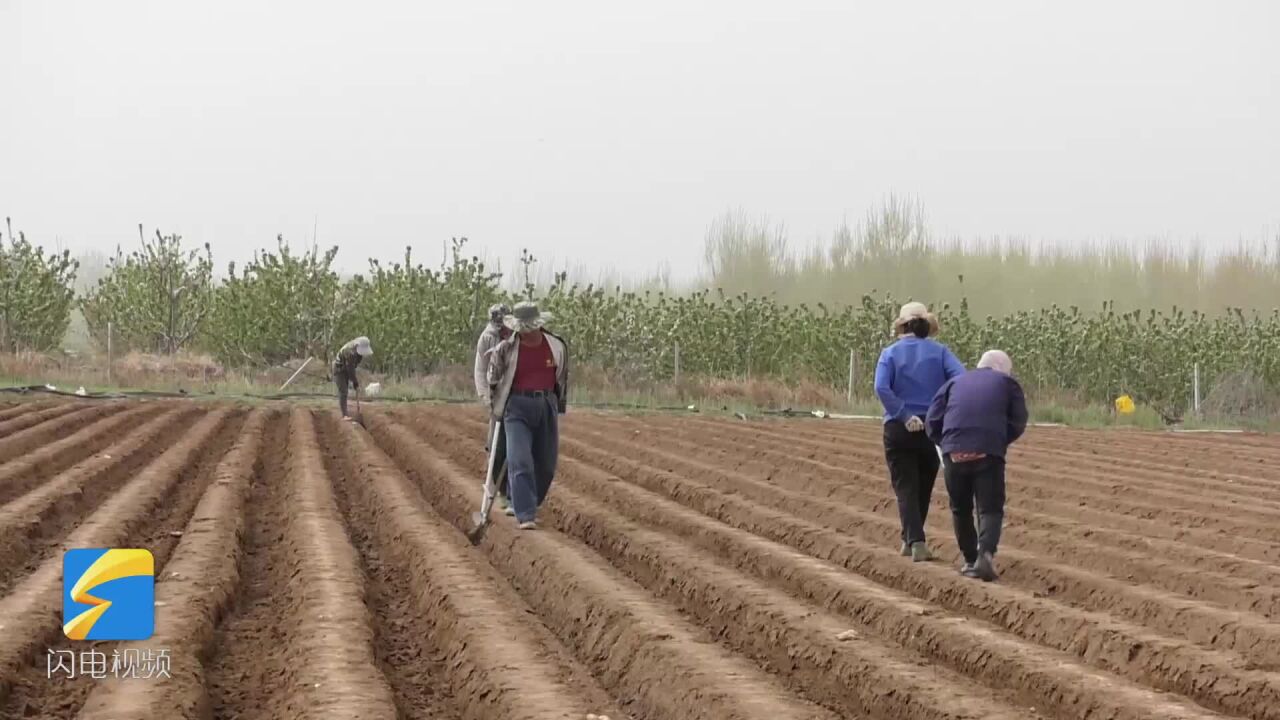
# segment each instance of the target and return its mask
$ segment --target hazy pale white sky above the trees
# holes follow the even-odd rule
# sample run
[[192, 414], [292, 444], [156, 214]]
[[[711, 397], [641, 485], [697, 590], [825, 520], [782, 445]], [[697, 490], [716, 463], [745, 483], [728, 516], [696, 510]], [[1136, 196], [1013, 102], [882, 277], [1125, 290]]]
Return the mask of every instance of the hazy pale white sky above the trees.
[[[730, 208], [829, 237], [1280, 227], [1280, 4], [0, 0], [0, 214], [433, 264], [691, 274]], [[682, 272], [686, 269], [689, 272]]]

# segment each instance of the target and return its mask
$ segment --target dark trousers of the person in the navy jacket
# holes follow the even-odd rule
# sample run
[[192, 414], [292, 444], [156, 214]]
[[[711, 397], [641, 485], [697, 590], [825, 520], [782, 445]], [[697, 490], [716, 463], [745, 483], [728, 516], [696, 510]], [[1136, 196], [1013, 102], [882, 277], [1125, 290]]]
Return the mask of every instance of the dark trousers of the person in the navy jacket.
[[[987, 456], [972, 462], [946, 459], [947, 495], [951, 496], [951, 521], [956, 544], [965, 562], [978, 560], [978, 552], [996, 553], [1005, 524], [1005, 460]], [[978, 528], [973, 527], [973, 506], [978, 502]]]

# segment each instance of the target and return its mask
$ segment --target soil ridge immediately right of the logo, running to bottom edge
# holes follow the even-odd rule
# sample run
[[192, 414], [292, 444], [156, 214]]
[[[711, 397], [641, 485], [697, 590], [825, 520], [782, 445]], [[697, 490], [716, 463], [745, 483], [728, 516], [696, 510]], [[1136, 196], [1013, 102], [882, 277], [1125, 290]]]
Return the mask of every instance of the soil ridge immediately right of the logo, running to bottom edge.
[[262, 410], [248, 416], [187, 523], [164, 578], [156, 583], [156, 633], [148, 641], [122, 646], [143, 652], [168, 650], [172, 678], [104, 683], [90, 694], [79, 715], [83, 720], [211, 716], [204, 657], [239, 584], [244, 502], [259, 469], [266, 420]]

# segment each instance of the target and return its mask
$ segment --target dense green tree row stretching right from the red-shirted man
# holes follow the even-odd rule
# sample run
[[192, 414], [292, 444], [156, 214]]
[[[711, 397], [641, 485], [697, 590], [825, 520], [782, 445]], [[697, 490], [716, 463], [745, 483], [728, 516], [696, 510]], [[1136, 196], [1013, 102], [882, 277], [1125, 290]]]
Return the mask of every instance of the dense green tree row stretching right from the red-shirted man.
[[[772, 299], [707, 291], [685, 297], [553, 286], [544, 304], [573, 343], [579, 363], [623, 377], [663, 379], [675, 372], [714, 378], [817, 380], [872, 391], [876, 361], [890, 342], [899, 301], [864, 296], [856, 306], [787, 306]], [[1174, 310], [1100, 313], [1057, 306], [977, 320], [968, 301], [938, 309], [938, 340], [970, 368], [989, 348], [1014, 357], [1033, 393], [1062, 391], [1100, 405], [1120, 393], [1179, 419], [1190, 404], [1198, 363], [1203, 391], [1228, 373], [1251, 370], [1280, 388], [1280, 311], [1226, 315]]]

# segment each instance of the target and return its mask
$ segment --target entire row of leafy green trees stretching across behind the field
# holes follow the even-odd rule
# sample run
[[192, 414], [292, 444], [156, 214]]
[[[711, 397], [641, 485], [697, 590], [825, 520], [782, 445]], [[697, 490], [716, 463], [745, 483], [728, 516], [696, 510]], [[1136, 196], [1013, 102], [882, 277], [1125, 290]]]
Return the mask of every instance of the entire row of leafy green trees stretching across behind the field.
[[[95, 287], [78, 299], [95, 341], [108, 324], [119, 351], [207, 351], [228, 365], [326, 360], [343, 341], [366, 334], [370, 363], [392, 374], [430, 373], [467, 363], [485, 309], [538, 296], [556, 314], [577, 361], [636, 379], [772, 377], [844, 388], [854, 360], [855, 388], [870, 388], [879, 350], [901, 297], [869, 292], [858, 302], [783, 304], [719, 291], [628, 292], [570, 283], [563, 273], [536, 288], [525, 254], [504, 291], [499, 273], [454, 240], [449, 263], [428, 268], [406, 250], [398, 263], [371, 260], [349, 279], [333, 268], [337, 249], [298, 252], [283, 238], [215, 282], [209, 246], [184, 249], [178, 236], [140, 228], [140, 247], [116, 252]], [[56, 347], [77, 302], [76, 261], [45, 254], [26, 238], [0, 245], [0, 340], [8, 351]], [[963, 282], [963, 281], [960, 281]], [[1070, 391], [1105, 402], [1133, 393], [1174, 416], [1190, 395], [1192, 368], [1206, 387], [1248, 373], [1280, 388], [1280, 311], [1230, 309], [1204, 314], [1057, 306], [979, 316], [969, 302], [937, 304], [942, 340], [968, 364], [983, 350], [1007, 350], [1033, 391]]]

